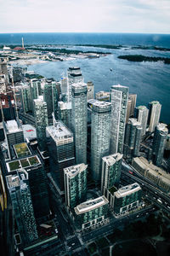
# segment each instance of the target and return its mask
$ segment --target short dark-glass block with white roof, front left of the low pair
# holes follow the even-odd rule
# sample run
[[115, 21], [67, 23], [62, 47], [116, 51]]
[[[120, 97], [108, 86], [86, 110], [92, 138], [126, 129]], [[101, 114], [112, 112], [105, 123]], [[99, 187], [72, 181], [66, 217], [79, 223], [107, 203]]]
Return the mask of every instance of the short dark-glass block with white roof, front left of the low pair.
[[94, 229], [108, 221], [108, 203], [104, 195], [75, 207], [74, 220], [78, 230]]

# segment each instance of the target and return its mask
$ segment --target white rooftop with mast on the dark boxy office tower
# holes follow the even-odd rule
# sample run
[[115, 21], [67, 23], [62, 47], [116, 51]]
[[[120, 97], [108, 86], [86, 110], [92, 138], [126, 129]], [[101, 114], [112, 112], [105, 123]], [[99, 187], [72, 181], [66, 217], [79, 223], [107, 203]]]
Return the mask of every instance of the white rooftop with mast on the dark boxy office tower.
[[56, 143], [63, 140], [71, 139], [73, 142], [72, 132], [60, 121], [56, 121], [54, 125], [46, 128], [47, 137], [52, 137]]

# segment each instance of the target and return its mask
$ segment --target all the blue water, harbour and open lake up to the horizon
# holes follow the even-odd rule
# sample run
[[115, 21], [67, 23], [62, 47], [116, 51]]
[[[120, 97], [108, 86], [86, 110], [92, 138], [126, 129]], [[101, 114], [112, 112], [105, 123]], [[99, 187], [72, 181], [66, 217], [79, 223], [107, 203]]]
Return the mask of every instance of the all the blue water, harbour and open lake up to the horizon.
[[[0, 34], [0, 44], [122, 44], [122, 45], [157, 45], [170, 48], [170, 35], [151, 34], [116, 34], [116, 33], [26, 33]], [[118, 55], [141, 54], [170, 57], [170, 51], [163, 52], [149, 49], [99, 49], [78, 47], [69, 49], [110, 51], [112, 54], [99, 59], [76, 59], [55, 61], [31, 65], [29, 70], [47, 78], [59, 80], [66, 69], [78, 66], [82, 69], [85, 82], [93, 81], [95, 92], [110, 90], [112, 84], [129, 87], [130, 93], [136, 93], [137, 105], [146, 105], [156, 100], [161, 102], [161, 120], [170, 123], [170, 65], [159, 62], [130, 62], [118, 59]], [[112, 72], [110, 70], [112, 68]]]

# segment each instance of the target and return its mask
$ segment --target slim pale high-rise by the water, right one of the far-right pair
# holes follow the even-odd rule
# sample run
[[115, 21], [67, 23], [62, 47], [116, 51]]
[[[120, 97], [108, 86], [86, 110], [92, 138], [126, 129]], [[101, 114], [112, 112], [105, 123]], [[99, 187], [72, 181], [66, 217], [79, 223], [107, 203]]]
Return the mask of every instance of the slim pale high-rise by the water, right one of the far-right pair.
[[149, 131], [153, 132], [156, 129], [156, 126], [159, 124], [160, 114], [161, 114], [161, 104], [160, 102], [150, 102], [148, 104], [149, 108]]

